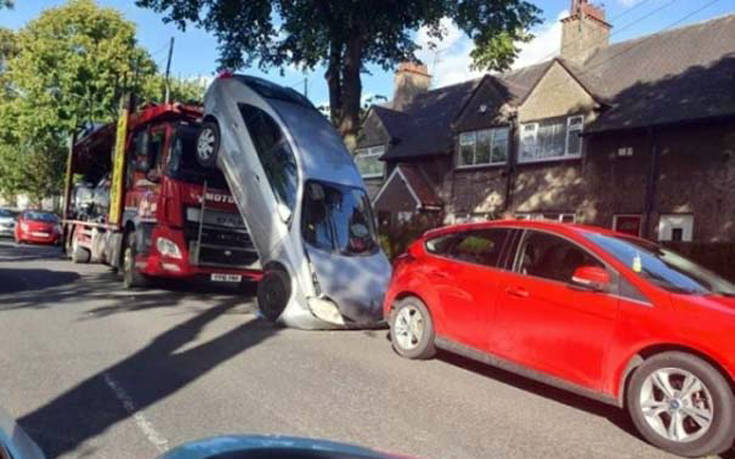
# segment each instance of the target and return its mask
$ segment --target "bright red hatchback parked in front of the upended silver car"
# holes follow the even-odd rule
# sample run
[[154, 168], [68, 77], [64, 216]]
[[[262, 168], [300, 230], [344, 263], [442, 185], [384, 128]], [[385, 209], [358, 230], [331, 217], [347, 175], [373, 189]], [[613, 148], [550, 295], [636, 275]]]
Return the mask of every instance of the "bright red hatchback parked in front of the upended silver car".
[[435, 348], [626, 407], [684, 456], [735, 440], [735, 285], [602, 228], [499, 221], [425, 233], [385, 297], [402, 356]]

